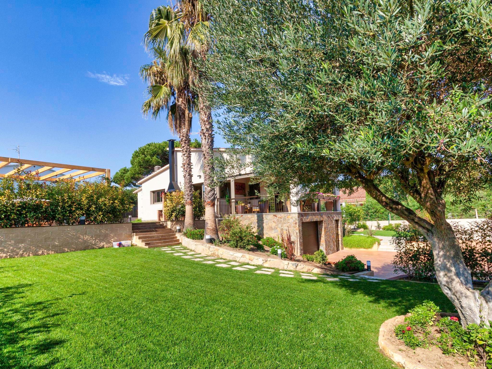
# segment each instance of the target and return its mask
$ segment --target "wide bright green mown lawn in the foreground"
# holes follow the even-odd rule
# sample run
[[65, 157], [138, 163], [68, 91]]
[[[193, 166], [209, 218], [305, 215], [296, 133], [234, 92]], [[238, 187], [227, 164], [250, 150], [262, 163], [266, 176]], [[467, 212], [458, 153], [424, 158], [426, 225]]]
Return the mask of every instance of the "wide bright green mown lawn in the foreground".
[[0, 260], [0, 368], [390, 369], [383, 321], [451, 311], [435, 284], [253, 272], [137, 247]]

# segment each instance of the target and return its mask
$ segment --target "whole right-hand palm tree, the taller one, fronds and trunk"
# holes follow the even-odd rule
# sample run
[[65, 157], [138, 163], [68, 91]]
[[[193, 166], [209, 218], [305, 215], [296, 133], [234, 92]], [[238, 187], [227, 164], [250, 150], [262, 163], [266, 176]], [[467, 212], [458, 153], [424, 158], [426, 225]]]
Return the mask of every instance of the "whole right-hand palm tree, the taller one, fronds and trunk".
[[[177, 52], [178, 40], [182, 47], [188, 50], [190, 59], [187, 63], [189, 86], [197, 87], [203, 81], [203, 71], [200, 71], [194, 61], [205, 60], [209, 51], [209, 14], [203, 11], [202, 4], [197, 0], [182, 0], [176, 5], [177, 18], [174, 23], [179, 23], [172, 33], [169, 25], [169, 17], [163, 11], [156, 12], [154, 27], [149, 27], [146, 36], [149, 42], [159, 45], [173, 43], [169, 47], [171, 52]], [[160, 17], [160, 18], [158, 18]], [[198, 99], [198, 112], [200, 114], [200, 136], [202, 139], [202, 151], [204, 162], [204, 200], [205, 200], [205, 235], [211, 235], [218, 239], [217, 223], [215, 220], [215, 186], [213, 185], [214, 168], [214, 126], [212, 123], [212, 111], [205, 96], [201, 93], [193, 97]]]

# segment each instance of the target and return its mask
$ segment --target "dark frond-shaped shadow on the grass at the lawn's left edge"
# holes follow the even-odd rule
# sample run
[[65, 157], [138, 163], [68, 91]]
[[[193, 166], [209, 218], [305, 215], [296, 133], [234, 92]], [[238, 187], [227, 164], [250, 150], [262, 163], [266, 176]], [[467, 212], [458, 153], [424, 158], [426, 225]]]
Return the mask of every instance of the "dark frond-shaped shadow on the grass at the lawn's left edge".
[[49, 353], [65, 342], [50, 337], [60, 326], [54, 323], [62, 315], [58, 302], [26, 300], [32, 284], [0, 288], [0, 369], [48, 369], [59, 360]]

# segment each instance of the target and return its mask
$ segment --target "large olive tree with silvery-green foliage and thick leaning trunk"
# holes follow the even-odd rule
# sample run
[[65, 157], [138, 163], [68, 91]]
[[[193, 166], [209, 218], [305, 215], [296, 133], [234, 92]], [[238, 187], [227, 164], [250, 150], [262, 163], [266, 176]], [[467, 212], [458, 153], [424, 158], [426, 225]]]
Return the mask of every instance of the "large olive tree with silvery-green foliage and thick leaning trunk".
[[364, 187], [429, 240], [462, 324], [492, 320], [492, 286], [473, 288], [444, 201], [491, 185], [490, 1], [206, 6], [209, 101], [255, 173], [285, 190]]

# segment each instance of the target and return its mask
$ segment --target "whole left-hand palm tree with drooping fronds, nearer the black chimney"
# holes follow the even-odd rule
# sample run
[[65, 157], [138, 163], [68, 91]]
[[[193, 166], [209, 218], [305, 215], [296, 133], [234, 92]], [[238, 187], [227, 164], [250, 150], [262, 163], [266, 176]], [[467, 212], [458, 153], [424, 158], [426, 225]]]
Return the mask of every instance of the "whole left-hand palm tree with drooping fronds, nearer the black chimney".
[[162, 109], [167, 110], [169, 128], [180, 138], [184, 174], [184, 228], [193, 229], [193, 184], [189, 138], [192, 119], [190, 109], [193, 99], [188, 86], [189, 76], [186, 67], [189, 55], [185, 47], [176, 45], [179, 40], [176, 40], [175, 36], [180, 32], [179, 22], [173, 22], [177, 18], [176, 12], [170, 7], [154, 9], [149, 29], [154, 27], [156, 17], [166, 19], [168, 25], [166, 31], [169, 37], [165, 42], [153, 46], [151, 43], [146, 43], [156, 59], [140, 69], [140, 75], [149, 84], [149, 98], [144, 102], [142, 111], [145, 115], [152, 111], [152, 117], [156, 119]]

